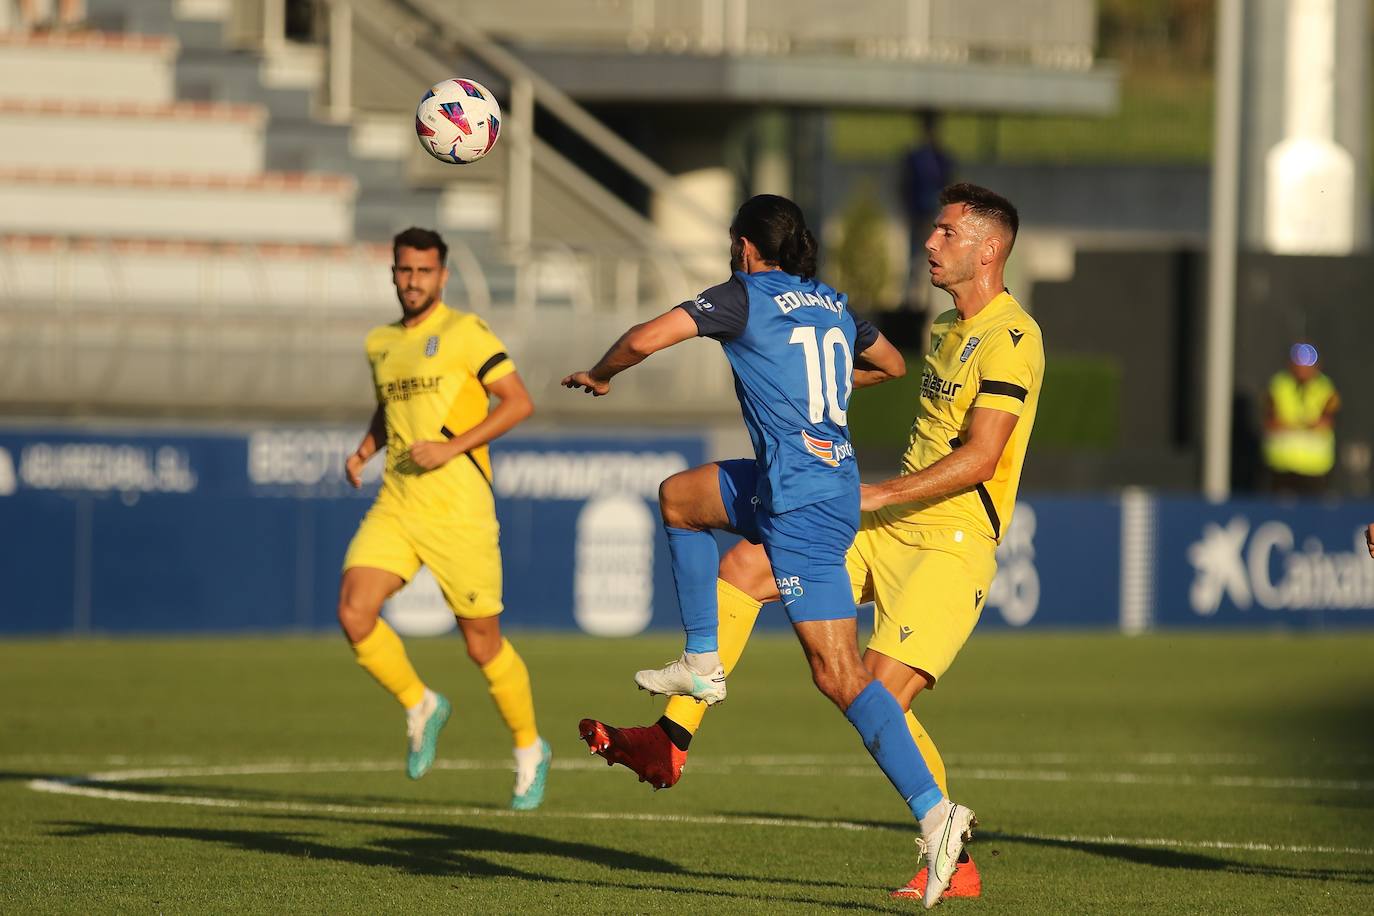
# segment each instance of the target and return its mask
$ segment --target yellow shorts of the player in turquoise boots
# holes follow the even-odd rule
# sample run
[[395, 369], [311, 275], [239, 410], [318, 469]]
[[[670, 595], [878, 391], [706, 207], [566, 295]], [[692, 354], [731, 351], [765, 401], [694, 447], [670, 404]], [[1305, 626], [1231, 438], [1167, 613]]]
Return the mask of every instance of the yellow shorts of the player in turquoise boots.
[[460, 618], [502, 612], [500, 527], [486, 520], [436, 520], [372, 504], [344, 555], [344, 569], [370, 566], [407, 582], [429, 567], [444, 599]]

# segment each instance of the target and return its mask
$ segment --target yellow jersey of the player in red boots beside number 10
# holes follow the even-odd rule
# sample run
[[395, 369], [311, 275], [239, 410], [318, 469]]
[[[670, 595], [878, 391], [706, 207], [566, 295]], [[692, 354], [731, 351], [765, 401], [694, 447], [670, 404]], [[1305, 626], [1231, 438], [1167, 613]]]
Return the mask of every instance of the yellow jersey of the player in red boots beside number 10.
[[1000, 541], [1017, 504], [1043, 378], [1040, 325], [1010, 293], [1000, 293], [967, 321], [955, 309], [937, 317], [901, 472], [927, 468], [958, 448], [971, 408], [1006, 411], [1020, 419], [992, 479], [934, 500], [885, 507], [878, 509], [879, 520], [908, 529], [962, 529]]

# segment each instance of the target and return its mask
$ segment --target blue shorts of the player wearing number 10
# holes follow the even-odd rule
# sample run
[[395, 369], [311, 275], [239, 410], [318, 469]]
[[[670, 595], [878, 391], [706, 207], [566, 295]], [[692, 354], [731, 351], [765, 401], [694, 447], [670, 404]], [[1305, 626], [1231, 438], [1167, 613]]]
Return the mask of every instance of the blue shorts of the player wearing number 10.
[[763, 544], [787, 618], [837, 621], [856, 615], [845, 553], [859, 531], [859, 489], [790, 512], [764, 511], [754, 494], [758, 466], [752, 459], [720, 461], [720, 497], [731, 529]]

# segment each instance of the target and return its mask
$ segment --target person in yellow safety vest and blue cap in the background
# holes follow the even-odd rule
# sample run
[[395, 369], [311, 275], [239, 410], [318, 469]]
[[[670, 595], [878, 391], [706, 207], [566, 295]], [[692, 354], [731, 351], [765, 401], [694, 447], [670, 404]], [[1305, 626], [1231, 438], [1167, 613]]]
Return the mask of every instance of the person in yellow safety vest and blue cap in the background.
[[1320, 496], [1336, 467], [1336, 412], [1341, 396], [1307, 342], [1289, 350], [1287, 368], [1275, 372], [1264, 405], [1264, 464], [1270, 489]]

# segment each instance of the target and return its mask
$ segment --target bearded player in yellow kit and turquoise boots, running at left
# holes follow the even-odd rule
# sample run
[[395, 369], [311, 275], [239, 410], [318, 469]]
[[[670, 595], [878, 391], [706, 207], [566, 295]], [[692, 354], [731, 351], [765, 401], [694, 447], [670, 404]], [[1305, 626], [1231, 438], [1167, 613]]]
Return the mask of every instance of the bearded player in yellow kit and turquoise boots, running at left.
[[[533, 412], [506, 347], [480, 317], [444, 305], [448, 246], [437, 232], [396, 236], [392, 280], [401, 319], [367, 335], [376, 411], [348, 479], [386, 449], [382, 490], [349, 544], [339, 623], [357, 662], [405, 707], [407, 772], [434, 764], [448, 699], [415, 673], [382, 603], [427, 566], [458, 617], [467, 655], [515, 739], [511, 808], [539, 808], [551, 751], [534, 728], [529, 672], [502, 637], [502, 555], [488, 444]], [[488, 409], [491, 398], [496, 405]]]

